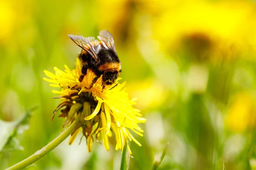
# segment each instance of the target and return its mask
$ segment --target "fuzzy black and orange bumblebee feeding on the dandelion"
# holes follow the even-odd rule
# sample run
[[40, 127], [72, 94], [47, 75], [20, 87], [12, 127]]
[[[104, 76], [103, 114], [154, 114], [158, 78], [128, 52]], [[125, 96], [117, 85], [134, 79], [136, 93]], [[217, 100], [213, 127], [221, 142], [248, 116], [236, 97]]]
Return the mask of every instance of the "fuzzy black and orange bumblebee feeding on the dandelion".
[[[113, 36], [110, 32], [102, 30], [99, 32], [98, 39], [94, 37], [82, 37], [68, 35], [73, 42], [82, 48], [79, 59], [82, 64], [81, 76], [79, 81], [82, 82], [87, 73], [87, 69], [92, 71], [96, 77], [91, 82], [88, 89], [102, 76], [102, 86], [112, 85], [117, 77], [121, 74], [121, 62], [116, 54], [116, 48]], [[103, 89], [102, 88], [102, 89]]]

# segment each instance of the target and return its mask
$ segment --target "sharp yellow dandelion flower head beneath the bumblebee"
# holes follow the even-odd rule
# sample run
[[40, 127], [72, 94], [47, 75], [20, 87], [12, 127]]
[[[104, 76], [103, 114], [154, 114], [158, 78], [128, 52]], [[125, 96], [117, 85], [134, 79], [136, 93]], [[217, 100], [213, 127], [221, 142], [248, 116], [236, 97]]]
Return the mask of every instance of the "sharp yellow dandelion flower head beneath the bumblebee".
[[[65, 71], [54, 68], [55, 74], [44, 71], [52, 87], [61, 87], [61, 91], [52, 91], [59, 94], [61, 102], [53, 112], [61, 110], [59, 117], [66, 117], [64, 125], [68, 125], [74, 120], [78, 121], [73, 130], [69, 143], [71, 144], [77, 134], [82, 131], [87, 139], [87, 149], [92, 151], [94, 138], [99, 142], [102, 140], [105, 149], [109, 150], [108, 138], [112, 133], [116, 137], [116, 150], [121, 152], [125, 145], [131, 153], [128, 145], [129, 141], [134, 141], [139, 146], [141, 144], [134, 138], [129, 129], [140, 136], [143, 136], [143, 130], [138, 123], [145, 123], [146, 119], [142, 117], [138, 109], [133, 108], [136, 104], [135, 99], [130, 100], [124, 90], [125, 82], [117, 85], [107, 85], [102, 87], [102, 77], [100, 77], [92, 88], [88, 89], [95, 74], [89, 69], [83, 81], [79, 81], [81, 76], [81, 63], [76, 60], [76, 68], [70, 70], [65, 65]], [[115, 86], [115, 87], [113, 87]], [[53, 117], [52, 117], [53, 118]]]

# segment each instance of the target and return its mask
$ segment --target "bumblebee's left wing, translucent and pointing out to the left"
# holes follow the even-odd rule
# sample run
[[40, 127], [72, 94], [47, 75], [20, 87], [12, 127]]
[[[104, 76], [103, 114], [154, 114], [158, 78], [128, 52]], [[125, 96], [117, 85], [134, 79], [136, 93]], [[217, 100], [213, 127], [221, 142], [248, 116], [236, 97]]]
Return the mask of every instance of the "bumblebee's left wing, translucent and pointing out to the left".
[[98, 51], [101, 48], [99, 41], [95, 40], [94, 37], [82, 37], [82, 36], [75, 36], [75, 35], [68, 35], [73, 42], [76, 43], [79, 47], [87, 51], [95, 61], [98, 60]]

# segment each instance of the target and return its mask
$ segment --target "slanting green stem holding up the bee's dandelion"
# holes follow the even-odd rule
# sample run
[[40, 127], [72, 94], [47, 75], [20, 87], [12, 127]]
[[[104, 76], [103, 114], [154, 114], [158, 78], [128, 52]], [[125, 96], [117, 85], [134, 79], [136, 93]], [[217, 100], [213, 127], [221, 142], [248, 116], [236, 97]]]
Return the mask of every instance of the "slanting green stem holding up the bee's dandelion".
[[47, 144], [41, 150], [36, 151], [33, 155], [29, 156], [23, 161], [20, 161], [19, 163], [13, 165], [12, 167], [7, 168], [6, 170], [20, 170], [34, 163], [38, 159], [42, 158], [51, 150], [53, 150], [56, 146], [58, 146], [61, 142], [63, 142], [64, 139], [66, 139], [73, 132], [73, 129], [76, 126], [76, 124], [77, 122], [75, 120], [69, 127], [67, 127], [67, 129], [63, 133], [61, 133], [57, 138], [53, 139], [52, 142]]

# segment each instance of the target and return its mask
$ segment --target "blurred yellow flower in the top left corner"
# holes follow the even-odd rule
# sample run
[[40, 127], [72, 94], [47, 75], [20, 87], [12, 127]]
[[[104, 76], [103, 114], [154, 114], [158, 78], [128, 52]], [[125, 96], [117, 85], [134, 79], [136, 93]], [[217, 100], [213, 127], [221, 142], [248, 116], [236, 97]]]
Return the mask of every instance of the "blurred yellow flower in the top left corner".
[[28, 41], [32, 41], [35, 34], [35, 28], [31, 22], [32, 11], [33, 1], [31, 0], [1, 1], [0, 43], [14, 48], [19, 42], [21, 45], [26, 45]]

